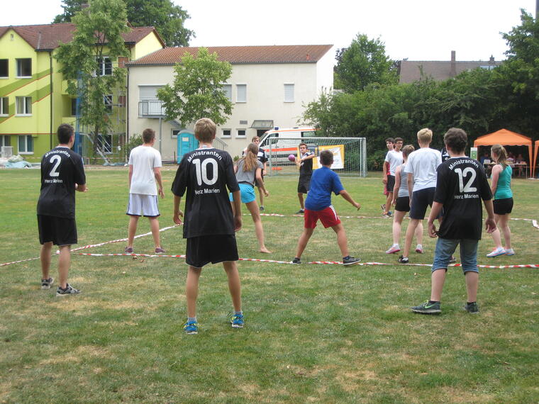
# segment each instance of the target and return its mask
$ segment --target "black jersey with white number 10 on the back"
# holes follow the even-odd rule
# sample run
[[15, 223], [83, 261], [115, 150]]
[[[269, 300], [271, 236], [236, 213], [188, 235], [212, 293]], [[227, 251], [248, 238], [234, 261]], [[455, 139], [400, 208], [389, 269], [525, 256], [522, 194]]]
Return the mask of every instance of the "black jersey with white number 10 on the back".
[[174, 195], [187, 193], [184, 238], [235, 234], [227, 187], [240, 189], [228, 152], [212, 147], [184, 155], [172, 183]]

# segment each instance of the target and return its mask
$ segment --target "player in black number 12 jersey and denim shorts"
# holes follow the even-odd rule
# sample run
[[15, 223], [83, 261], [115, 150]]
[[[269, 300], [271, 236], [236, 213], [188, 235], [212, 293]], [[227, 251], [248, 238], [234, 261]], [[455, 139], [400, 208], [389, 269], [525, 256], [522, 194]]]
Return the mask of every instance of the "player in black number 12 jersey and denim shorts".
[[[445, 273], [451, 254], [460, 245], [460, 261], [466, 277], [467, 303], [464, 309], [468, 313], [479, 313], [477, 305], [477, 286], [479, 270], [477, 269], [477, 245], [481, 239], [482, 207], [487, 210], [485, 228], [491, 233], [496, 229], [492, 193], [487, 176], [481, 164], [475, 159], [466, 157], [467, 135], [464, 130], [451, 128], [445, 133], [443, 140], [450, 159], [438, 166], [436, 190], [433, 207], [428, 216], [428, 235], [438, 236], [432, 266], [432, 288], [430, 301], [411, 308], [413, 312], [423, 314], [441, 313], [440, 298], [442, 296]], [[443, 208], [443, 220], [440, 230], [436, 231], [434, 220]]]

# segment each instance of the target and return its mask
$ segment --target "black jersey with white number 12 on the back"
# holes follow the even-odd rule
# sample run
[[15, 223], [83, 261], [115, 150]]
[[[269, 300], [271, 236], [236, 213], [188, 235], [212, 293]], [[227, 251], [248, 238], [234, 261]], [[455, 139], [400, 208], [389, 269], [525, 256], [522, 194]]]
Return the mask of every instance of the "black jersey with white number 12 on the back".
[[492, 198], [487, 176], [477, 160], [452, 157], [438, 166], [434, 201], [443, 203], [438, 236], [481, 240], [482, 201]]

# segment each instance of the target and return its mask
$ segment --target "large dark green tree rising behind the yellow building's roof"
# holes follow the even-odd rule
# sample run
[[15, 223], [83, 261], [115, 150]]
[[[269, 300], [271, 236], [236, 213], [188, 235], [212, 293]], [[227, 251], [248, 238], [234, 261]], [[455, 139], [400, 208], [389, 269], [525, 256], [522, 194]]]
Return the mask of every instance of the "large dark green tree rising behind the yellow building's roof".
[[[92, 0], [93, 1], [93, 0]], [[167, 46], [188, 46], [194, 32], [184, 27], [189, 18], [187, 11], [171, 0], [124, 0], [127, 19], [134, 27], [155, 27]], [[89, 0], [62, 0], [64, 13], [54, 23], [70, 23], [77, 11]]]

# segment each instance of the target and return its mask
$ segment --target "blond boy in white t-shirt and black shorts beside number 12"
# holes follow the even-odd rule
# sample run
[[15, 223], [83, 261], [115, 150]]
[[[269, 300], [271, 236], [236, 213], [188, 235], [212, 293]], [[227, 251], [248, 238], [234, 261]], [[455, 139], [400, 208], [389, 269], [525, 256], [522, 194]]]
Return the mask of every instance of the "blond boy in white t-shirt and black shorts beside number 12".
[[436, 189], [436, 169], [442, 164], [442, 155], [438, 150], [428, 147], [433, 140], [433, 131], [424, 128], [417, 133], [419, 149], [411, 152], [404, 172], [408, 174], [408, 191], [410, 193], [410, 224], [406, 229], [404, 252], [399, 257], [401, 264], [408, 264], [408, 255], [413, 239], [413, 233], [425, 218], [427, 206], [433, 206]]

